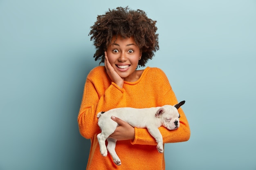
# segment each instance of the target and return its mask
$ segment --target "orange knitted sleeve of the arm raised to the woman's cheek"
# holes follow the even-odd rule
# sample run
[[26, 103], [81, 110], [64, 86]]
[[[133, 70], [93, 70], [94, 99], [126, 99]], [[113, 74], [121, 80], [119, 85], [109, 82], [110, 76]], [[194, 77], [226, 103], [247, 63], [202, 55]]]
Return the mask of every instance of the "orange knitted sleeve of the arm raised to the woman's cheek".
[[116, 84], [108, 82], [102, 67], [96, 67], [89, 74], [85, 82], [83, 98], [78, 115], [80, 134], [91, 139], [100, 132], [97, 113], [122, 107], [119, 101], [124, 101], [124, 90]]

